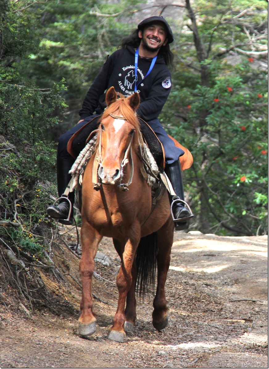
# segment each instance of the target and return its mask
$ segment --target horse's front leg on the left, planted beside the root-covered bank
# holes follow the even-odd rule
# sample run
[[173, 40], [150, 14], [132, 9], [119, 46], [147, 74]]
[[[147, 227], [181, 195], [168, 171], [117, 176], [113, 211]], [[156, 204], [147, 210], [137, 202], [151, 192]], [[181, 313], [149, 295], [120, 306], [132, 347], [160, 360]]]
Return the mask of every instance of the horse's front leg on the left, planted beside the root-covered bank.
[[94, 257], [102, 236], [94, 230], [90, 224], [83, 223], [81, 226], [82, 254], [79, 270], [82, 282], [82, 298], [80, 303], [81, 315], [78, 318], [78, 333], [88, 336], [96, 331], [95, 314], [92, 311], [92, 275], [94, 272]]

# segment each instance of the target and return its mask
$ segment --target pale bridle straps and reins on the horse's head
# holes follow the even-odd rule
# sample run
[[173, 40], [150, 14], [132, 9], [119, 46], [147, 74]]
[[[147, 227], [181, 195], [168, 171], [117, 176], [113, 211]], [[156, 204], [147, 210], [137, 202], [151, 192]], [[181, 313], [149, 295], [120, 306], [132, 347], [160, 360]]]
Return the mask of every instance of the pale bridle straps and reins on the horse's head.
[[[114, 115], [112, 113], [109, 113], [109, 115], [114, 119], [126, 120], [126, 118], [118, 116], [118, 115]], [[102, 130], [100, 131], [99, 147], [98, 147], [97, 152], [95, 154], [94, 165], [92, 167], [92, 183], [94, 184], [94, 189], [97, 190], [97, 191], [102, 187], [102, 183], [98, 182], [98, 168], [99, 168], [100, 164], [102, 163], [101, 134], [102, 134]], [[133, 180], [133, 151], [132, 151], [132, 148], [131, 148], [132, 141], [133, 141], [133, 135], [132, 135], [132, 138], [130, 139], [129, 145], [128, 145], [126, 151], [125, 151], [124, 158], [122, 159], [122, 162], [120, 164], [120, 168], [121, 168], [121, 170], [120, 170], [120, 183], [118, 184], [118, 187], [119, 187], [120, 190], [123, 190], [123, 191], [129, 190], [128, 186], [132, 183], [132, 180]], [[130, 161], [127, 158], [129, 152], [130, 152]], [[130, 162], [129, 179], [128, 179], [127, 183], [122, 183], [122, 178], [123, 178], [123, 175], [124, 175], [123, 168], [129, 162]]]

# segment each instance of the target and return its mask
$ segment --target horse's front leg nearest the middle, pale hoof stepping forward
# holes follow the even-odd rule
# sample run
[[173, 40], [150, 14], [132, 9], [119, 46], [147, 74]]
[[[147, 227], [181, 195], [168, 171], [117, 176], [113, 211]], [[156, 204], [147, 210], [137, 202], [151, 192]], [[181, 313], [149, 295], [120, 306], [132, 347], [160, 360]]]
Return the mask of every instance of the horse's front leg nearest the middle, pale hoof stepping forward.
[[[132, 232], [133, 237], [130, 237], [125, 244], [121, 258], [121, 267], [117, 275], [117, 287], [119, 291], [118, 307], [113, 320], [113, 326], [108, 334], [108, 338], [116, 342], [124, 342], [125, 331], [125, 301], [127, 293], [132, 285], [132, 266], [135, 258], [135, 253], [140, 239], [140, 231]], [[138, 237], [137, 237], [138, 235]]]

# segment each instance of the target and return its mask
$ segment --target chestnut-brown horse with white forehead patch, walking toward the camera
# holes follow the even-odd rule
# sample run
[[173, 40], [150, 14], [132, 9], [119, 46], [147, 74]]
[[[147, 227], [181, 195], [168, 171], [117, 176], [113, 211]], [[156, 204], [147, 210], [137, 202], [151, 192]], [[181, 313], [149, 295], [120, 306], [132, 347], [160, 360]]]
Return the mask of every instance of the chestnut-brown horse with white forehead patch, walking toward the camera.
[[[135, 115], [140, 103], [139, 94], [117, 97], [113, 87], [106, 93], [107, 108], [98, 128], [97, 152], [88, 162], [83, 177], [79, 265], [82, 299], [78, 322], [81, 336], [95, 332], [91, 289], [94, 257], [102, 237], [112, 237], [121, 267], [116, 278], [118, 307], [108, 338], [123, 342], [125, 332], [132, 331], [136, 321], [137, 274], [142, 282], [140, 288], [149, 289], [150, 277], [155, 278], [154, 263], [157, 263], [157, 289], [153, 301], [153, 326], [161, 330], [168, 323], [164, 285], [170, 265], [174, 222], [167, 193], [153, 208], [151, 187], [142, 176], [138, 151], [139, 121]], [[98, 191], [93, 189], [97, 170]], [[123, 191], [124, 187], [128, 191]], [[146, 242], [141, 242], [145, 239]]]

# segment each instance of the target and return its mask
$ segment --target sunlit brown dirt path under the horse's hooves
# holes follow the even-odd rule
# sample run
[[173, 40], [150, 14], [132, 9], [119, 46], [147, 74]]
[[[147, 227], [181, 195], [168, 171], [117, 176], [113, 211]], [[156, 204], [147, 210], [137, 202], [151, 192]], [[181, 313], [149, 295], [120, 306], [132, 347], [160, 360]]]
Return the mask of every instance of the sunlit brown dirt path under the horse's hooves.
[[[74, 242], [73, 233], [65, 237]], [[43, 277], [74, 311], [59, 317], [47, 309], [30, 313], [24, 301], [18, 311], [0, 305], [0, 367], [268, 368], [267, 242], [267, 236], [177, 232], [166, 286], [169, 324], [162, 332], [154, 330], [152, 298], [140, 301], [136, 329], [123, 344], [106, 338], [116, 310], [111, 282], [119, 265], [111, 241], [104, 239], [99, 250], [109, 255], [113, 268], [96, 263], [98, 275], [111, 282], [94, 279], [98, 326], [88, 340], [77, 335], [78, 259], [62, 250], [55, 260], [73, 276], [70, 286]]]

